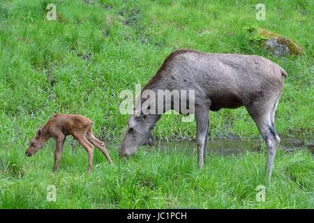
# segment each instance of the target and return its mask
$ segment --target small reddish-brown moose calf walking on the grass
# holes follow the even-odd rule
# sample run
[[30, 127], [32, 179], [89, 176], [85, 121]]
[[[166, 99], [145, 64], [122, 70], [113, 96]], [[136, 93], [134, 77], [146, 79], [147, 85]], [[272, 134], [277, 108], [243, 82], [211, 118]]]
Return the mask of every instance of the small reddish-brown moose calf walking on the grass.
[[71, 134], [87, 151], [89, 157], [88, 171], [91, 172], [93, 162], [94, 146], [103, 152], [108, 162], [112, 164], [110, 155], [103, 141], [98, 140], [91, 132], [93, 122], [84, 116], [77, 114], [54, 114], [43, 127], [37, 130], [36, 136], [31, 139], [29, 148], [25, 155], [31, 156], [43, 147], [45, 142], [52, 137], [56, 140], [56, 151], [54, 151], [54, 171], [58, 170], [63, 144], [66, 136]]

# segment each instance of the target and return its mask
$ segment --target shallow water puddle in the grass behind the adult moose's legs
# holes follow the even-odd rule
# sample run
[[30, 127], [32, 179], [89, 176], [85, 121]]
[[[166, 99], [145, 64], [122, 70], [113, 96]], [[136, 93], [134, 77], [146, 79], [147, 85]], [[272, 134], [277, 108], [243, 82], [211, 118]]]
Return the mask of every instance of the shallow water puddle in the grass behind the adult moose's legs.
[[[262, 151], [262, 139], [242, 140], [242, 139], [210, 139], [207, 143], [207, 153], [218, 155], [238, 155], [246, 151], [260, 153]], [[151, 149], [165, 151], [167, 153], [196, 153], [195, 141], [160, 141]], [[266, 148], [266, 146], [264, 146]], [[280, 148], [282, 151], [293, 152], [307, 149], [314, 154], [314, 140], [312, 139], [293, 139], [281, 137]]]

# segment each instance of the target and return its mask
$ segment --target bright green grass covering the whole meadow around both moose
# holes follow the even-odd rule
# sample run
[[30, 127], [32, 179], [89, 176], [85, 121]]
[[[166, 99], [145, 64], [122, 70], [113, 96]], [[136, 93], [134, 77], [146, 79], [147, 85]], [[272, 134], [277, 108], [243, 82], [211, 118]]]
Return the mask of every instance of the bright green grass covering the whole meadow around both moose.
[[[264, 178], [266, 154], [211, 155], [204, 169], [181, 153], [147, 153], [109, 167], [98, 151], [87, 175], [87, 155], [66, 148], [52, 173], [54, 143], [31, 158], [29, 139], [55, 112], [91, 118], [98, 137], [119, 144], [127, 115], [119, 113], [124, 89], [135, 91], [174, 49], [258, 54], [288, 73], [276, 113], [279, 134], [313, 132], [313, 1], [263, 1], [266, 20], [255, 20], [259, 1], [61, 1], [0, 3], [0, 208], [313, 208], [313, 155], [279, 153], [273, 181]], [[48, 3], [58, 21], [45, 19]], [[121, 13], [123, 12], [123, 13]], [[250, 45], [246, 26], [281, 33], [304, 49], [302, 56], [273, 57]], [[158, 139], [195, 137], [195, 123], [165, 115]], [[211, 113], [209, 134], [260, 137], [244, 108]], [[267, 186], [267, 201], [255, 187]], [[46, 201], [56, 185], [57, 202]]]

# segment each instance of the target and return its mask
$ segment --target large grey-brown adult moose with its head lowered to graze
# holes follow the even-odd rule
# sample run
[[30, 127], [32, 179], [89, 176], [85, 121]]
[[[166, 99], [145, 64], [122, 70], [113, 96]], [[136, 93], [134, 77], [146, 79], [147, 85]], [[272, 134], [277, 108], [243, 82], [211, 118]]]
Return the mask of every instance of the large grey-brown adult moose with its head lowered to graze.
[[[283, 68], [262, 56], [207, 54], [181, 49], [167, 56], [142, 92], [148, 89], [155, 92], [158, 89], [195, 91], [193, 113], [200, 168], [204, 164], [207, 145], [209, 110], [245, 106], [267, 144], [267, 173], [270, 178], [281, 141], [276, 134], [274, 116], [284, 77], [287, 77], [287, 73]], [[161, 116], [137, 112], [128, 119], [119, 148], [120, 157], [134, 155], [139, 146], [151, 141], [151, 130]]]

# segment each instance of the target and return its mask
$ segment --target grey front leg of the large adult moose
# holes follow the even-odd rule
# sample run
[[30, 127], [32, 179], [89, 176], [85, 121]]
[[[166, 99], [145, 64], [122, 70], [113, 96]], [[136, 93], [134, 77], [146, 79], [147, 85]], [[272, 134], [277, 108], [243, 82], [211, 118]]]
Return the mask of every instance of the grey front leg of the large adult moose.
[[204, 165], [204, 154], [207, 146], [207, 133], [209, 125], [209, 105], [195, 106], [196, 143], [198, 167]]

